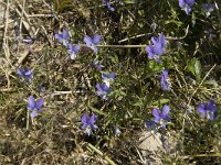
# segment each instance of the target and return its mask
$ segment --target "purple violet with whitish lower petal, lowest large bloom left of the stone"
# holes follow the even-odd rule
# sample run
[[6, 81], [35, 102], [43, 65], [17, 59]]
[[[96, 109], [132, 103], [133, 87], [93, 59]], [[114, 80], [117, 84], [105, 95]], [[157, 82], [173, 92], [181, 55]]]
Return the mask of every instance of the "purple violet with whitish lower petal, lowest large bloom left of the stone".
[[82, 129], [85, 130], [84, 132], [87, 133], [88, 136], [91, 135], [92, 130], [97, 130], [97, 125], [94, 124], [96, 120], [97, 117], [94, 113], [92, 113], [91, 118], [86, 113], [82, 116]]

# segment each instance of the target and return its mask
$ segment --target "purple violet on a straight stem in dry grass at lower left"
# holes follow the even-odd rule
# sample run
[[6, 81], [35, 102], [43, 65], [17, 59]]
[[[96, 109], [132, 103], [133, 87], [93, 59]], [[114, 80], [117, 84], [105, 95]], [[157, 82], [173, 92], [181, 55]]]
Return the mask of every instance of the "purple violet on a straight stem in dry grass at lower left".
[[28, 98], [28, 106], [27, 108], [31, 111], [31, 118], [35, 118], [41, 111], [42, 111], [42, 106], [44, 103], [44, 99], [41, 98], [35, 101], [35, 98], [33, 96], [30, 96]]

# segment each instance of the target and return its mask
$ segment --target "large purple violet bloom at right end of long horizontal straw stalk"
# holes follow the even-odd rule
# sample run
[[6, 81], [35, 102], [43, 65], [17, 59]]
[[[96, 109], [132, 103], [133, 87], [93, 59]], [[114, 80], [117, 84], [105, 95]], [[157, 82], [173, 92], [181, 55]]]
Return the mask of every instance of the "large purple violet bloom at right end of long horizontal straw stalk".
[[148, 58], [155, 61], [157, 63], [160, 62], [160, 56], [165, 53], [165, 48], [167, 45], [167, 40], [164, 34], [160, 34], [159, 37], [152, 36], [151, 42], [154, 45], [146, 46], [146, 52], [148, 53]]

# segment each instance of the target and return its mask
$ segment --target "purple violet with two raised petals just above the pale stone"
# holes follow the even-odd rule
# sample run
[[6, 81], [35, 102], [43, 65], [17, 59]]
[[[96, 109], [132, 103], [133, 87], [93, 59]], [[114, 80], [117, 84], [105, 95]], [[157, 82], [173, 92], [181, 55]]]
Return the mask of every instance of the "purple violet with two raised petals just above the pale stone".
[[162, 128], [165, 128], [166, 123], [164, 121], [170, 121], [169, 111], [170, 111], [169, 106], [164, 106], [162, 111], [160, 111], [158, 108], [154, 108], [152, 109], [152, 116], [155, 116], [154, 121], [156, 123], [160, 123]]

